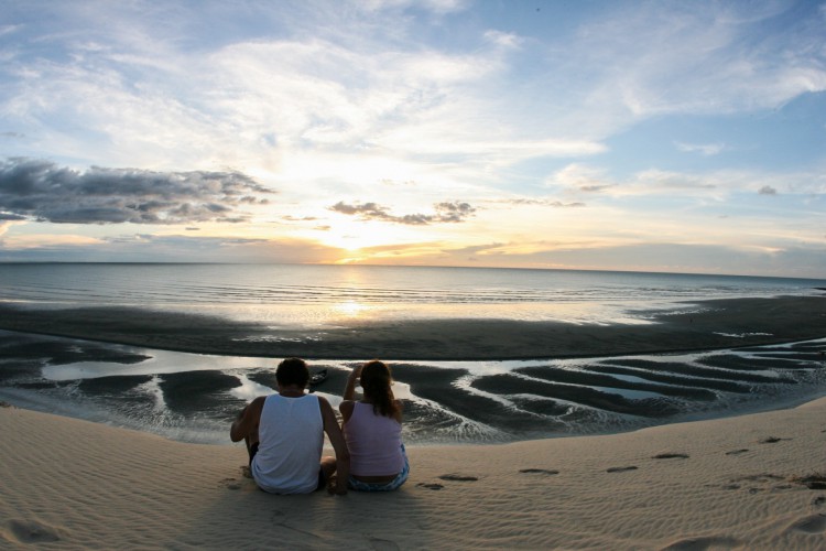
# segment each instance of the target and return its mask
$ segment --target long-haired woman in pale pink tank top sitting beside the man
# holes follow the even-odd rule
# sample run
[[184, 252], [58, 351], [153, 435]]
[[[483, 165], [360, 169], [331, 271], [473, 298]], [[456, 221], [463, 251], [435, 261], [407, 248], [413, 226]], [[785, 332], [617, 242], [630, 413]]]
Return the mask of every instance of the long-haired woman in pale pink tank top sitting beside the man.
[[[363, 397], [354, 401], [361, 377]], [[407, 479], [410, 465], [402, 444], [402, 402], [393, 397], [390, 368], [374, 359], [352, 370], [338, 407], [350, 452], [350, 489], [389, 491]]]

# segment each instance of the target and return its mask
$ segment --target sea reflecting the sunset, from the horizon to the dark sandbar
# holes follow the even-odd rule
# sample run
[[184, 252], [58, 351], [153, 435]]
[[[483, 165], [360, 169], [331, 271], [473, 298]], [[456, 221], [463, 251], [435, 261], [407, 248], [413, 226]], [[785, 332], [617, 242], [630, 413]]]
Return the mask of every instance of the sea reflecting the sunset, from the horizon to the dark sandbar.
[[680, 302], [811, 294], [826, 280], [611, 271], [295, 264], [6, 263], [0, 302], [138, 306], [281, 328], [354, 318], [633, 323]]

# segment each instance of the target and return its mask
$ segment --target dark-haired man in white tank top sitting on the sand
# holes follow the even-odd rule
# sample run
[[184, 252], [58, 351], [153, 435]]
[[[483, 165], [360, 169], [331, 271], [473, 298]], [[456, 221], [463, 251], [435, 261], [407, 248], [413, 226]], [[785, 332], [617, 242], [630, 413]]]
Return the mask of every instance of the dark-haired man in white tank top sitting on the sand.
[[[347, 494], [350, 456], [329, 402], [304, 392], [309, 369], [289, 358], [275, 370], [276, 395], [252, 400], [232, 422], [232, 442], [247, 442], [256, 484], [273, 494], [308, 494], [329, 484], [338, 471], [337, 494]], [[336, 452], [322, 457], [324, 433]]]

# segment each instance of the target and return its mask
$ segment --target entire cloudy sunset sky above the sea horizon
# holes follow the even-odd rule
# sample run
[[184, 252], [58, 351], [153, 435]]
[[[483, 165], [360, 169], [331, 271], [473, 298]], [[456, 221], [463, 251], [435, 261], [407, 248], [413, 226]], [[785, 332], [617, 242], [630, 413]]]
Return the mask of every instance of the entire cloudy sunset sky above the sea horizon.
[[826, 278], [826, 3], [0, 0], [0, 262]]

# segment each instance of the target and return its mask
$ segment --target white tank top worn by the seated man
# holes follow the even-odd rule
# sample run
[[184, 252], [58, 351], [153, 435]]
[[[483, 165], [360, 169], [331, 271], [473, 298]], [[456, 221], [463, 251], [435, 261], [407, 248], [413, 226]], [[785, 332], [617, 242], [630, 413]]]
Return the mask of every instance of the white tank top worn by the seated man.
[[252, 477], [273, 494], [309, 494], [318, 486], [324, 421], [318, 398], [270, 395], [261, 410]]

